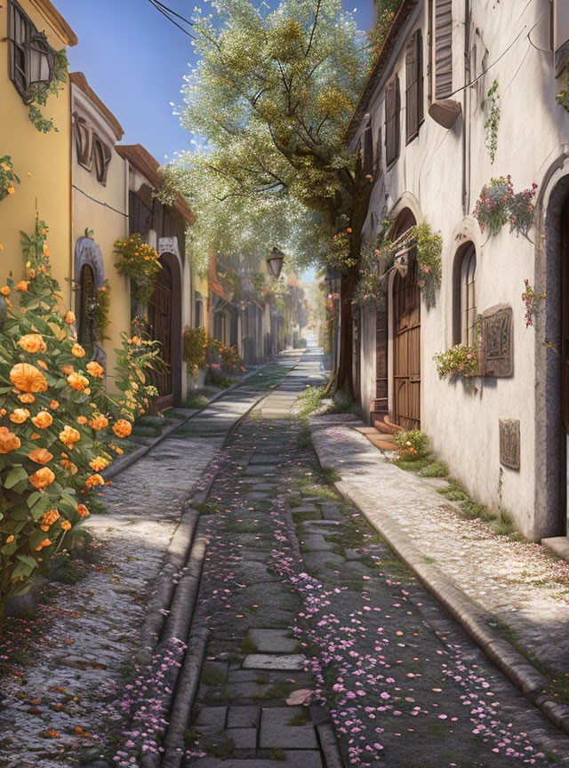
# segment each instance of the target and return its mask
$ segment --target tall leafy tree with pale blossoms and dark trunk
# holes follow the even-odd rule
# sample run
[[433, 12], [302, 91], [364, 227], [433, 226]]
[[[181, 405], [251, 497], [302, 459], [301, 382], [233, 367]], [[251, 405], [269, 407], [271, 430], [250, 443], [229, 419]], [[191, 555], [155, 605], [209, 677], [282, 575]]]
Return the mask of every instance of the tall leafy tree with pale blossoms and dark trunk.
[[371, 47], [341, 0], [212, 0], [181, 123], [200, 139], [166, 170], [196, 211], [190, 251], [267, 252], [342, 271], [337, 386], [351, 388], [352, 299], [372, 178], [345, 146]]

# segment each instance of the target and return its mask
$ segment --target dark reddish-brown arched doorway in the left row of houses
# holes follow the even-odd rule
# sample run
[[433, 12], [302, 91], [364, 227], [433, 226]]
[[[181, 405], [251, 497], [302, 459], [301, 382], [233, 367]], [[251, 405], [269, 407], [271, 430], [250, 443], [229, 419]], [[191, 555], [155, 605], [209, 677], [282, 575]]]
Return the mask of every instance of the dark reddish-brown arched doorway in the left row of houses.
[[158, 408], [180, 403], [181, 396], [181, 282], [180, 265], [172, 253], [160, 257], [154, 294], [148, 305], [152, 339], [162, 344], [165, 372], [155, 374]]

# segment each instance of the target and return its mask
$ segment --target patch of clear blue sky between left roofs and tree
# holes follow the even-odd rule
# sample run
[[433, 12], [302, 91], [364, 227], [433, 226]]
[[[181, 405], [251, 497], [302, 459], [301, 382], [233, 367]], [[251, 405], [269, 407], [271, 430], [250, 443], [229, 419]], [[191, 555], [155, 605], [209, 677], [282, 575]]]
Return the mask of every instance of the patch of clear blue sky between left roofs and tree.
[[[163, 0], [189, 18], [196, 0]], [[190, 136], [172, 115], [180, 103], [182, 77], [194, 60], [191, 40], [148, 0], [54, 0], [76, 32], [69, 50], [71, 71], [81, 71], [124, 128], [124, 144], [140, 143], [164, 163], [164, 156], [189, 149]], [[268, 0], [276, 7], [278, 0]], [[373, 0], [344, 0], [360, 28], [369, 28]]]

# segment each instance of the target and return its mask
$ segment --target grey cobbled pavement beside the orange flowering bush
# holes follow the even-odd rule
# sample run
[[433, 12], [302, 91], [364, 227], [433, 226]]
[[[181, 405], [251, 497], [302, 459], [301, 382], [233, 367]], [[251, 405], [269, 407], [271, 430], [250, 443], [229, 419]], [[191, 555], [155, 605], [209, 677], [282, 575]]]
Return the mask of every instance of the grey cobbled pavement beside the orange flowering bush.
[[[295, 359], [284, 357], [283, 372]], [[105, 490], [108, 514], [90, 517], [85, 526], [102, 545], [100, 558], [76, 585], [52, 587], [36, 623], [23, 621], [28, 627], [22, 632], [36, 634], [37, 642], [18, 674], [0, 680], [0, 766], [55, 768], [99, 756], [108, 700], [129, 675], [153, 581], [184, 502], [204, 470], [215, 471], [212, 460], [228, 428], [265, 394], [258, 373]]]

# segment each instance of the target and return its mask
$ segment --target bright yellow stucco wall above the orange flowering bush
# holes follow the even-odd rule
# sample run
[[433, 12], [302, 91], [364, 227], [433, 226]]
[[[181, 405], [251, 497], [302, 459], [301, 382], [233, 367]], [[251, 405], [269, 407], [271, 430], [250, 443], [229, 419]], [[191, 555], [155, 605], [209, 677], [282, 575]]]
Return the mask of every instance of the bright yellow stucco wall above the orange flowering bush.
[[[65, 47], [60, 37], [47, 24], [28, 0], [20, 6], [45, 32], [48, 43], [56, 51]], [[40, 133], [29, 122], [28, 108], [8, 75], [8, 4], [0, 5], [0, 156], [10, 155], [14, 171], [20, 176], [16, 193], [0, 201], [0, 279], [12, 269], [15, 277], [23, 276], [20, 229], [32, 232], [36, 205], [40, 218], [50, 229], [53, 276], [60, 281], [66, 305], [71, 290], [65, 277], [71, 275], [71, 113], [69, 84], [59, 97], [51, 96], [42, 108], [52, 117], [59, 132]], [[29, 174], [29, 175], [28, 175]]]

